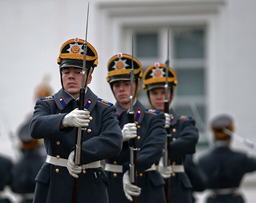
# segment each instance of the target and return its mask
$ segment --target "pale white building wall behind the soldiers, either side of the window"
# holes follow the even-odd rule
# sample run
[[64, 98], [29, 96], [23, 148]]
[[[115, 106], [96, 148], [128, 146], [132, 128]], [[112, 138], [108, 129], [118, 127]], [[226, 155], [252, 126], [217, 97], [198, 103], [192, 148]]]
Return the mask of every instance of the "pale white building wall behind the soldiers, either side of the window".
[[[68, 39], [75, 37], [85, 39], [87, 2], [82, 0], [0, 1], [1, 154], [9, 155], [13, 160], [18, 158], [11, 149], [17, 146], [18, 139], [10, 138], [8, 132], [12, 131], [16, 136], [19, 125], [32, 113], [35, 87], [43, 76], [51, 75], [50, 86], [53, 87], [54, 92], [61, 88], [56, 63], [59, 50]], [[90, 87], [99, 97], [113, 102], [113, 95], [105, 79], [106, 65], [112, 55], [122, 51], [120, 50], [122, 39], [129, 36], [127, 33], [121, 33], [122, 25], [119, 23], [125, 21], [129, 24], [132, 18], [128, 16], [122, 19], [114, 18], [111, 13], [107, 13], [104, 6], [102, 7], [103, 4], [107, 4], [106, 2], [112, 2], [110, 5], [114, 8], [115, 4], [120, 5], [127, 1], [90, 1], [87, 40], [99, 55], [99, 66], [95, 68]], [[194, 1], [169, 0], [156, 3], [138, 0], [136, 2], [141, 9], [136, 10], [135, 1], [129, 1], [129, 5], [135, 5], [134, 11], [137, 12], [135, 14], [142, 15], [141, 19], [143, 19], [144, 4], [145, 8], [148, 8], [151, 3], [159, 9], [159, 12], [161, 3], [177, 5]], [[218, 4], [215, 14], [206, 13], [204, 19], [200, 19], [200, 15], [191, 17], [198, 22], [207, 23], [208, 26], [208, 119], [218, 113], [230, 113], [235, 118], [236, 132], [256, 143], [256, 1], [197, 2], [205, 5], [209, 2]], [[182, 11], [182, 7], [180, 9]], [[183, 22], [184, 19], [190, 18], [188, 14], [186, 18], [180, 19], [178, 14], [173, 15], [174, 17], [166, 17], [165, 21]], [[158, 20], [161, 20], [161, 17], [157, 15], [152, 17], [152, 21], [158, 22]], [[124, 49], [127, 50], [129, 47]], [[233, 146], [248, 150], [236, 141]], [[252, 150], [248, 153], [256, 155]], [[248, 179], [251, 179], [251, 176], [249, 177]], [[254, 181], [256, 178], [252, 179]]]

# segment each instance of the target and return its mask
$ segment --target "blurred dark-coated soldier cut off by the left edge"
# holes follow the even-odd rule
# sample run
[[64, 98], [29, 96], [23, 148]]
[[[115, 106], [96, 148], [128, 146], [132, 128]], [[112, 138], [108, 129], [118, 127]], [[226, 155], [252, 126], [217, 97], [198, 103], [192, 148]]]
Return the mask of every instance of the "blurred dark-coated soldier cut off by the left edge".
[[0, 203], [11, 203], [3, 194], [5, 186], [11, 184], [12, 162], [10, 159], [0, 156]]

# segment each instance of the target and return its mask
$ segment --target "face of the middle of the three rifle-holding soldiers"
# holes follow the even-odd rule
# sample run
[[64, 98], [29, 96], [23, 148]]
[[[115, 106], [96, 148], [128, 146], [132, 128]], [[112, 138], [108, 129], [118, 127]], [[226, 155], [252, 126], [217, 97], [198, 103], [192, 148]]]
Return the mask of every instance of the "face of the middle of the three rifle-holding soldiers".
[[[118, 103], [127, 104], [130, 102], [131, 85], [129, 80], [118, 80], [113, 82], [113, 92]], [[136, 82], [133, 81], [133, 94], [136, 90]]]

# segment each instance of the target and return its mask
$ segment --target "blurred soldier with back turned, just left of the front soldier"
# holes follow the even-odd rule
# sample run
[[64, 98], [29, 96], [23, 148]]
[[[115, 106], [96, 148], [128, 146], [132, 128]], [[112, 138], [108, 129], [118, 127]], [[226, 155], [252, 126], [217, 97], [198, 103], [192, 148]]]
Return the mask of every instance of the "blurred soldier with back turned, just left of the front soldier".
[[21, 203], [32, 203], [35, 187], [36, 175], [44, 164], [43, 157], [39, 154], [38, 140], [31, 138], [29, 133], [28, 120], [19, 130], [19, 138], [22, 141], [23, 157], [13, 166], [12, 184], [13, 192], [21, 195]]

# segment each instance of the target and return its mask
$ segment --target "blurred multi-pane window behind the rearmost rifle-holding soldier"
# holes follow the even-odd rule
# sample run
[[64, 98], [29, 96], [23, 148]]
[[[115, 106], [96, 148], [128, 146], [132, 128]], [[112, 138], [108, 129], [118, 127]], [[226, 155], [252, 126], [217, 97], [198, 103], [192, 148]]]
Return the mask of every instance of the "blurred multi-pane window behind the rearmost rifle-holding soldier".
[[[162, 31], [166, 28], [162, 28]], [[171, 27], [170, 28], [170, 66], [174, 69], [178, 79], [175, 89], [175, 99], [172, 107], [179, 115], [189, 115], [196, 120], [201, 135], [205, 134], [206, 122], [206, 58], [205, 58], [205, 30], [204, 27]], [[136, 57], [143, 65], [143, 71], [154, 62], [164, 63], [165, 49], [160, 52], [160, 45], [166, 43], [166, 38], [160, 33], [135, 33]], [[161, 53], [163, 56], [161, 56]], [[150, 107], [145, 91], [140, 91], [138, 99]], [[200, 136], [199, 144], [206, 144], [206, 136]]]

